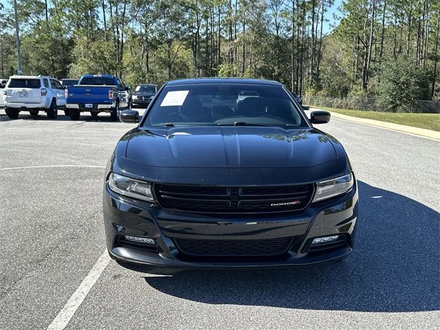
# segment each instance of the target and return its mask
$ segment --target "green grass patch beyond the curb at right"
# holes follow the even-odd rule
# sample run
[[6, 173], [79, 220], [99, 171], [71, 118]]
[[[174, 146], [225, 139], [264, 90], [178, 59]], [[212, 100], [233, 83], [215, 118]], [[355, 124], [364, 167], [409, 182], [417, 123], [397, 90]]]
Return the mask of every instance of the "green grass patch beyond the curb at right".
[[432, 131], [440, 131], [440, 113], [392, 113], [326, 107], [315, 108], [341, 113], [342, 115], [351, 115], [358, 118], [380, 120], [382, 122], [393, 122], [394, 124], [419, 127], [421, 129], [430, 129]]

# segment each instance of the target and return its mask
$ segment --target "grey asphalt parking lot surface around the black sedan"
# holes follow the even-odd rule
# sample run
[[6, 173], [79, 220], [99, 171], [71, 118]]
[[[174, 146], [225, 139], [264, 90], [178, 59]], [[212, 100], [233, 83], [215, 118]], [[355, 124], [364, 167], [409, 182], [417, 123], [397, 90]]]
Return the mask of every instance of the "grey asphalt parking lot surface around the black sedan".
[[[439, 142], [319, 126], [359, 180], [357, 246], [342, 263], [127, 270], [103, 257], [101, 197], [107, 159], [132, 125], [82, 119], [0, 110], [0, 329], [59, 329], [72, 300], [65, 329], [439, 329]], [[98, 260], [96, 283], [75, 295]]]

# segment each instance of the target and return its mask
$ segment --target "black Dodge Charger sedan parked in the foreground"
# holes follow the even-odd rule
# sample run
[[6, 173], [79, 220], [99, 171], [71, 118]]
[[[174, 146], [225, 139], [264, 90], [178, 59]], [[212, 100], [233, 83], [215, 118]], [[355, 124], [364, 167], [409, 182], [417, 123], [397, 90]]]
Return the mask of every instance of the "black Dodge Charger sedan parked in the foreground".
[[115, 147], [104, 182], [113, 259], [157, 267], [278, 267], [353, 250], [358, 188], [347, 153], [267, 80], [175, 80]]

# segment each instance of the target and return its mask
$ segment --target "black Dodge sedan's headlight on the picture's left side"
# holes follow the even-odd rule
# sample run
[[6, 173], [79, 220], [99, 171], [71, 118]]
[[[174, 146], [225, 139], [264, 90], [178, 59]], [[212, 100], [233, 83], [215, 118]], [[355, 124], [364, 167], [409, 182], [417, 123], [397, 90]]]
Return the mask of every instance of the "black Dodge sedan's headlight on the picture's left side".
[[111, 173], [109, 176], [109, 188], [117, 194], [143, 201], [154, 201], [151, 184], [144, 181], [137, 181], [129, 177]]

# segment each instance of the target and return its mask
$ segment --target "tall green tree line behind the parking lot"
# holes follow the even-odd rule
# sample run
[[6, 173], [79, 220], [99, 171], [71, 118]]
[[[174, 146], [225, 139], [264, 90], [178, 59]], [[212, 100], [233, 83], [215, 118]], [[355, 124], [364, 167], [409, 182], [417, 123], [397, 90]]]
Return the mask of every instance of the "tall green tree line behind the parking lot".
[[[439, 94], [438, 0], [20, 0], [23, 74], [278, 80], [298, 94], [388, 102]], [[17, 69], [0, 5], [0, 74]], [[329, 18], [327, 18], [328, 20]], [[333, 19], [330, 18], [330, 21]]]

